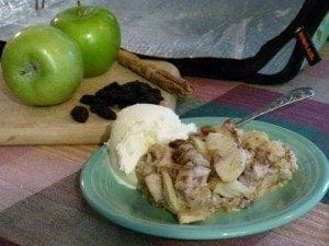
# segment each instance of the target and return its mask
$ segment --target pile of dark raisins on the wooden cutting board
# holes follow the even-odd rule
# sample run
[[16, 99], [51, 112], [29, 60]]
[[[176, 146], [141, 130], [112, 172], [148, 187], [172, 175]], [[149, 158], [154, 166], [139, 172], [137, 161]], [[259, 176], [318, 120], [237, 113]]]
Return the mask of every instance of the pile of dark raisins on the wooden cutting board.
[[[88, 105], [91, 113], [104, 119], [115, 119], [116, 114], [112, 109], [120, 109], [137, 103], [160, 104], [163, 99], [159, 89], [140, 81], [127, 82], [120, 85], [117, 82], [100, 89], [94, 95], [83, 95], [80, 103]], [[89, 113], [83, 106], [76, 106], [71, 110], [72, 118], [78, 122], [86, 122]]]

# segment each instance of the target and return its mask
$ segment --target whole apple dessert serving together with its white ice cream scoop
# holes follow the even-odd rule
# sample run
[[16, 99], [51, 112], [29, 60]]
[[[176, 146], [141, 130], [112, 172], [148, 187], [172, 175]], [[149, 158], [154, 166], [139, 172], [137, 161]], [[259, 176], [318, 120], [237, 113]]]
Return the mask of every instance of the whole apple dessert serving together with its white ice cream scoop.
[[232, 120], [196, 131], [162, 108], [122, 110], [107, 144], [118, 180], [177, 214], [179, 223], [245, 209], [298, 169], [294, 152], [265, 132], [243, 131]]

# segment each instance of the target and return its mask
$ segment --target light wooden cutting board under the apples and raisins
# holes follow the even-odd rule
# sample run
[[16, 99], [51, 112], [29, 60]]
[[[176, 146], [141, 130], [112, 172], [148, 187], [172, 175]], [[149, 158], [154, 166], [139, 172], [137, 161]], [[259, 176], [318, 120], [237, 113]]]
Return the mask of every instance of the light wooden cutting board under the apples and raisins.
[[[149, 62], [173, 75], [179, 75], [178, 69], [171, 63]], [[115, 62], [105, 74], [84, 79], [73, 96], [64, 104], [30, 107], [21, 104], [11, 94], [0, 69], [0, 145], [102, 143], [109, 139], [112, 120], [102, 119], [90, 113], [87, 122], [79, 124], [70, 117], [70, 110], [79, 105], [83, 94], [94, 94], [113, 81], [123, 84], [134, 80], [147, 82]], [[156, 87], [154, 84], [151, 86]], [[161, 104], [174, 109], [175, 97], [162, 90], [161, 93], [164, 98]]]

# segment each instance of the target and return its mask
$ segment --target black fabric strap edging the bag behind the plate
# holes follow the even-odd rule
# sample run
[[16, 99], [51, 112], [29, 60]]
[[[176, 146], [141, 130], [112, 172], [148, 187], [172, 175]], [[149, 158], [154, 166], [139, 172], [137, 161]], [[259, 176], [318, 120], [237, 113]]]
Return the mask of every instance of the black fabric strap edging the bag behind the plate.
[[300, 70], [304, 52], [296, 44], [286, 67], [275, 74], [262, 74], [259, 71], [295, 37], [295, 32], [303, 26], [313, 36], [329, 10], [329, 1], [306, 0], [296, 17], [276, 37], [266, 42], [253, 57], [231, 58], [159, 58], [141, 56], [148, 59], [164, 59], [178, 67], [182, 75], [211, 79], [235, 80], [258, 84], [276, 84], [290, 81]]

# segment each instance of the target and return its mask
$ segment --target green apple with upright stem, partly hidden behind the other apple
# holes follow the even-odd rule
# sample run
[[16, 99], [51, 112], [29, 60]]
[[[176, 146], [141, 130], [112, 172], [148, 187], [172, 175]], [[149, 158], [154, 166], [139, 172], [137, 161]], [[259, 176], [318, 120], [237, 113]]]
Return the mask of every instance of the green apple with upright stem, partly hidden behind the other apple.
[[77, 5], [59, 12], [50, 25], [75, 39], [82, 52], [84, 77], [107, 71], [121, 46], [116, 17], [103, 7]]

